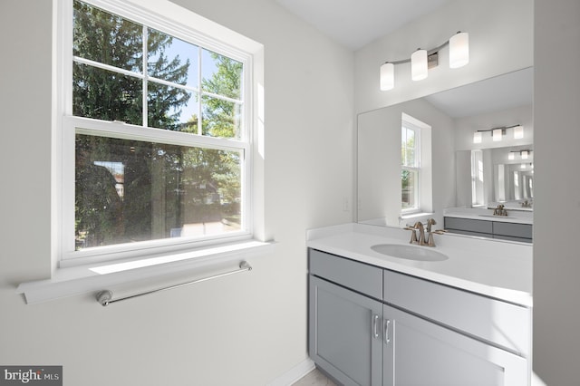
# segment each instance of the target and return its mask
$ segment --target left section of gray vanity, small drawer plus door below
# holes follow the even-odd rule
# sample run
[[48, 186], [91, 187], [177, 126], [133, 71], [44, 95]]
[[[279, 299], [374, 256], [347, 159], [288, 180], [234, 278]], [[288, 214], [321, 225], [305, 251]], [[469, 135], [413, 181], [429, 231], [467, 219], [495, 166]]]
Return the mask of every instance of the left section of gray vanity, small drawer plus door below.
[[310, 357], [344, 385], [380, 386], [382, 269], [314, 249], [308, 255]]

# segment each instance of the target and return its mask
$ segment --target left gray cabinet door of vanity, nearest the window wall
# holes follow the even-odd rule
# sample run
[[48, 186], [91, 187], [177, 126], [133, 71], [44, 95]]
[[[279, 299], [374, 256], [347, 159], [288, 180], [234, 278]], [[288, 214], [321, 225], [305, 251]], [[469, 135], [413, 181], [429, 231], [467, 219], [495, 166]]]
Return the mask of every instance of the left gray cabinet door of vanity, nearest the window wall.
[[382, 383], [382, 303], [310, 275], [309, 353], [343, 385]]

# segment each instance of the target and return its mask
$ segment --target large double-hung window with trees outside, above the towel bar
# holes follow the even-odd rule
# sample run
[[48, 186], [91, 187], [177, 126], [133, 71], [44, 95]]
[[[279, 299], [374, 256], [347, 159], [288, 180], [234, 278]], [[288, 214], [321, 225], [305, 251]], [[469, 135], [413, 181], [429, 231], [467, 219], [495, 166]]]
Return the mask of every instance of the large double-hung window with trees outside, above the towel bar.
[[249, 237], [251, 56], [125, 2], [70, 8], [63, 261]]

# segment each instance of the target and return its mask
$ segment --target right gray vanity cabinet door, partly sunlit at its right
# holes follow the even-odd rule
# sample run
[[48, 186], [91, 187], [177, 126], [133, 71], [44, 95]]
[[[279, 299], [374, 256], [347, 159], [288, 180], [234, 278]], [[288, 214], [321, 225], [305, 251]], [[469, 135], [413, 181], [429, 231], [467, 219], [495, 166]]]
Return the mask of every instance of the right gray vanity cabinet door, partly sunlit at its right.
[[384, 306], [385, 386], [525, 386], [527, 361], [436, 323]]

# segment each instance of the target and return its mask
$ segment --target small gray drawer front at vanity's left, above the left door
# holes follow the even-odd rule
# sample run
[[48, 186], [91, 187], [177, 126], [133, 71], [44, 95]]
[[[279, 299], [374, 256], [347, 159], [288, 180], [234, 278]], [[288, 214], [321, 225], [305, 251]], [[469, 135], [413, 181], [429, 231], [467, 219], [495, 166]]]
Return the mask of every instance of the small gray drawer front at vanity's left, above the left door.
[[353, 260], [308, 249], [311, 275], [352, 288], [375, 299], [382, 299], [382, 269]]

